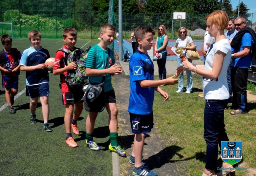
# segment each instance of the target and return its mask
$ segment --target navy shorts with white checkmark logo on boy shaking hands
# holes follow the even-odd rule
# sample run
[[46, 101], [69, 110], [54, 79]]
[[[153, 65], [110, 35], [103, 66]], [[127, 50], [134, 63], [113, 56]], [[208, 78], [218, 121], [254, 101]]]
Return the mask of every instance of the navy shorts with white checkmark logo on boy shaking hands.
[[153, 113], [146, 115], [132, 114], [130, 113], [130, 123], [132, 133], [149, 133], [154, 126]]

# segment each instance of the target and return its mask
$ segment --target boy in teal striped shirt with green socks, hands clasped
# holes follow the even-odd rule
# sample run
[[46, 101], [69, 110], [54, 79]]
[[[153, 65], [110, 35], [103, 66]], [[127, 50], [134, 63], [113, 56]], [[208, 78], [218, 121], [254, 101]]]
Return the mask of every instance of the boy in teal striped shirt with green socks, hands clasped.
[[[86, 75], [90, 83], [101, 83], [103, 75], [105, 80], [103, 89], [105, 92], [105, 107], [109, 114], [110, 145], [109, 150], [120, 156], [126, 156], [125, 151], [117, 144], [117, 104], [116, 95], [111, 83], [111, 75], [119, 75], [123, 69], [115, 63], [114, 51], [107, 46], [114, 41], [116, 28], [110, 24], [104, 24], [100, 28], [100, 42], [93, 46], [84, 62]], [[108, 64], [109, 63], [109, 64]], [[105, 66], [107, 65], [107, 68]], [[98, 112], [89, 112], [86, 119], [86, 144], [91, 150], [100, 150], [93, 140], [93, 131]]]

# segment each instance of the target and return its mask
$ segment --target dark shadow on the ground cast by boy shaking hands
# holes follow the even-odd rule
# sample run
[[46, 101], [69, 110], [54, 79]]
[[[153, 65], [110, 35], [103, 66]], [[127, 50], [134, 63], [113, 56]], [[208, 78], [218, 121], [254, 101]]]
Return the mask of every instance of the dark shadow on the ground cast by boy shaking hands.
[[[195, 158], [196, 156], [189, 157], [182, 159], [184, 156], [179, 154], [178, 152], [182, 150], [181, 147], [179, 146], [169, 146], [166, 147], [165, 149], [161, 150], [159, 153], [150, 156], [148, 159], [145, 159], [144, 162], [149, 164], [149, 169], [154, 169], [154, 168], [160, 168], [166, 163], [175, 163], [179, 161], [187, 161]], [[171, 160], [174, 155], [177, 155], [180, 157], [179, 160]]]

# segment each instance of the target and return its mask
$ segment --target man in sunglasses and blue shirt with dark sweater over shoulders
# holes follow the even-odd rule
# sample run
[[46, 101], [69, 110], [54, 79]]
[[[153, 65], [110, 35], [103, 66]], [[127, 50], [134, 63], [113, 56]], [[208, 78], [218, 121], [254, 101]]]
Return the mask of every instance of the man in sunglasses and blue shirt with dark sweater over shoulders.
[[251, 62], [255, 63], [255, 42], [256, 34], [254, 30], [247, 27], [244, 17], [237, 17], [234, 25], [238, 33], [231, 42], [232, 66], [231, 85], [233, 89], [233, 100], [230, 114], [243, 114], [246, 111], [247, 94], [246, 86], [248, 79], [248, 68]]

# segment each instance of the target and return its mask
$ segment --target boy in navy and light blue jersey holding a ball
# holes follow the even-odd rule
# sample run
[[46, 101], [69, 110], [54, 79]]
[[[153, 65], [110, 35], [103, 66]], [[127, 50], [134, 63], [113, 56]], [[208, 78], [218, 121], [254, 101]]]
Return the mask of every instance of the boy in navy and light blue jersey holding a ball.
[[26, 71], [26, 95], [30, 97], [30, 123], [36, 123], [36, 104], [38, 97], [42, 104], [44, 119], [44, 130], [51, 132], [52, 128], [48, 124], [49, 120], [49, 73], [46, 69], [45, 61], [50, 58], [47, 49], [40, 46], [41, 34], [37, 30], [29, 32], [29, 40], [32, 46], [24, 50], [21, 60], [20, 69]]

